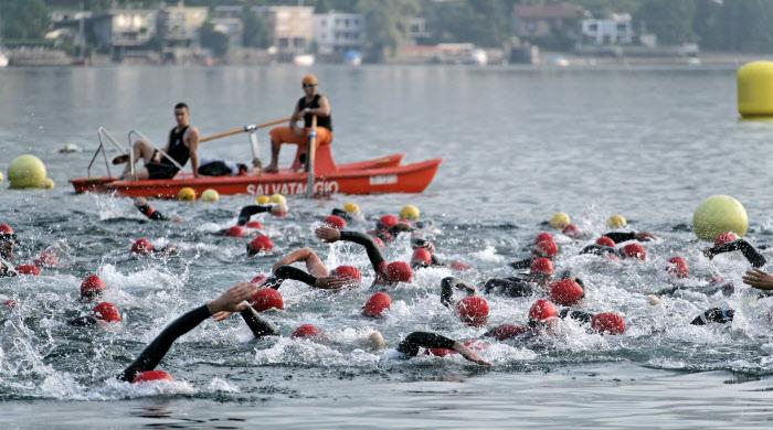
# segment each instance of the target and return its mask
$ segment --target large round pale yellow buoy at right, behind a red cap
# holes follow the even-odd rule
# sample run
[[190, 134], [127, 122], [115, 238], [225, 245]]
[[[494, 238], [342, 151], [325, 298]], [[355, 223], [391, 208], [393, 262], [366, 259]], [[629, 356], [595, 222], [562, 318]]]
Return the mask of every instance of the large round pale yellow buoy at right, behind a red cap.
[[703, 240], [713, 240], [726, 232], [743, 236], [748, 228], [746, 209], [741, 202], [729, 195], [712, 195], [692, 214], [692, 229]]

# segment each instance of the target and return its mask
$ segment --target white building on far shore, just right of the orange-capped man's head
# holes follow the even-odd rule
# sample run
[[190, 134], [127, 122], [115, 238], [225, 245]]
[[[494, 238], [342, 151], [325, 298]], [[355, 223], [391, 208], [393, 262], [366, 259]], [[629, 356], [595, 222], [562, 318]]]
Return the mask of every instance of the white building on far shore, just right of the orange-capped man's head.
[[342, 58], [348, 51], [361, 51], [364, 19], [359, 13], [331, 11], [314, 15], [314, 40], [320, 56]]

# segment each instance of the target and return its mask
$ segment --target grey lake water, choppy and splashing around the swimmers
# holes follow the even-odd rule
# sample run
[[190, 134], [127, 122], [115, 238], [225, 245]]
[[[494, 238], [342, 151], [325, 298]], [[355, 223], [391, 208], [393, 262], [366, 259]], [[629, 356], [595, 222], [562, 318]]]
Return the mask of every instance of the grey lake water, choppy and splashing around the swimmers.
[[[180, 313], [236, 281], [267, 271], [277, 255], [244, 258], [244, 240], [213, 235], [233, 224], [248, 196], [216, 205], [159, 202], [183, 224], [146, 223], [126, 198], [73, 195], [66, 180], [85, 173], [97, 126], [121, 139], [130, 128], [161, 140], [171, 106], [186, 100], [203, 133], [282, 117], [299, 97], [294, 68], [94, 68], [0, 71], [0, 168], [24, 152], [41, 157], [59, 187], [0, 191], [2, 222], [22, 237], [20, 262], [54, 245], [63, 264], [39, 278], [0, 280], [19, 308], [0, 314], [0, 424], [3, 427], [153, 426], [305, 427], [765, 427], [771, 300], [741, 283], [744, 260], [700, 254], [688, 225], [703, 197], [727, 193], [745, 205], [751, 238], [769, 244], [772, 126], [739, 122], [733, 71], [510, 68], [324, 68], [333, 104], [336, 157], [356, 161], [407, 152], [443, 157], [430, 190], [417, 196], [290, 200], [287, 219], [265, 218], [277, 252], [313, 246], [330, 266], [372, 275], [361, 249], [320, 245], [314, 223], [354, 200], [369, 215], [419, 205], [435, 221], [440, 255], [470, 262], [470, 281], [511, 273], [507, 261], [557, 209], [597, 236], [612, 213], [656, 232], [646, 262], [578, 256], [585, 241], [561, 239], [559, 269], [586, 283], [583, 308], [625, 314], [624, 336], [587, 334], [565, 323], [541, 342], [491, 345], [481, 369], [459, 357], [388, 362], [363, 347], [371, 330], [395, 344], [416, 330], [457, 338], [460, 325], [438, 300], [449, 269], [420, 271], [391, 291], [383, 321], [364, 320], [367, 288], [339, 293], [287, 282], [284, 312], [268, 313], [288, 335], [301, 323], [330, 343], [288, 337], [252, 341], [241, 320], [208, 321], [174, 346], [161, 368], [177, 381], [138, 387], [112, 376]], [[204, 155], [246, 159], [246, 139], [202, 146]], [[267, 138], [263, 136], [263, 142]], [[262, 148], [265, 154], [265, 146]], [[286, 154], [287, 159], [289, 153]], [[134, 238], [177, 244], [179, 256], [135, 259]], [[388, 251], [407, 259], [407, 238]], [[669, 286], [665, 261], [685, 256], [699, 284], [712, 275], [735, 282], [731, 297], [685, 294], [652, 307], [646, 294]], [[766, 254], [770, 257], [770, 254]], [[88, 307], [76, 301], [85, 275], [98, 271], [125, 321], [113, 331], [65, 324]], [[370, 283], [366, 278], [364, 283]], [[528, 299], [490, 298], [490, 323], [525, 322]], [[689, 325], [710, 307], [738, 310], [732, 326]], [[85, 400], [107, 400], [84, 402]], [[86, 412], [88, 411], [88, 412]], [[98, 412], [95, 412], [98, 411]]]

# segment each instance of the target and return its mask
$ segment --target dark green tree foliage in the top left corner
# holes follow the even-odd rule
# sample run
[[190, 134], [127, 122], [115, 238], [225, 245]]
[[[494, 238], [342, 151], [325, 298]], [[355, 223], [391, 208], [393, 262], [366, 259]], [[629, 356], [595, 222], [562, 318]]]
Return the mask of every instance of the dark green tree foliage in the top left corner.
[[42, 39], [49, 28], [50, 10], [43, 0], [0, 1], [0, 29], [4, 39]]

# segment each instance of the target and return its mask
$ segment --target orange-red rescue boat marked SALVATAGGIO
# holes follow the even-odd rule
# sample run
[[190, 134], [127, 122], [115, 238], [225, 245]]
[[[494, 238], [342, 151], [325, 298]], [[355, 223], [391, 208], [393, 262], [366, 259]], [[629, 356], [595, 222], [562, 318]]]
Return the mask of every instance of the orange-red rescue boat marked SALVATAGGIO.
[[[94, 159], [96, 159], [96, 155]], [[338, 165], [330, 146], [321, 146], [315, 160], [314, 195], [421, 193], [435, 178], [443, 160], [432, 159], [401, 164], [403, 154]], [[92, 160], [92, 162], [94, 161]], [[91, 168], [91, 166], [89, 166]], [[170, 180], [123, 181], [112, 176], [87, 176], [71, 180], [75, 193], [116, 193], [129, 197], [173, 198], [182, 187], [200, 195], [213, 189], [232, 194], [307, 194], [308, 173], [282, 170], [277, 173], [241, 176], [200, 176], [180, 172]]]

